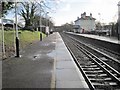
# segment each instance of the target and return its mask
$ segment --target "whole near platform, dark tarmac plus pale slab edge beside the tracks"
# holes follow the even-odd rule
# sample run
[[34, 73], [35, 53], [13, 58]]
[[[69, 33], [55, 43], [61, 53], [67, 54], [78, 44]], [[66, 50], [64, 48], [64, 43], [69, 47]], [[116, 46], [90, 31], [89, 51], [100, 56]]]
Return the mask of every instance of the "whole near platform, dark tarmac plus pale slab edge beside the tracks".
[[2, 88], [89, 90], [59, 33], [27, 46], [2, 63]]

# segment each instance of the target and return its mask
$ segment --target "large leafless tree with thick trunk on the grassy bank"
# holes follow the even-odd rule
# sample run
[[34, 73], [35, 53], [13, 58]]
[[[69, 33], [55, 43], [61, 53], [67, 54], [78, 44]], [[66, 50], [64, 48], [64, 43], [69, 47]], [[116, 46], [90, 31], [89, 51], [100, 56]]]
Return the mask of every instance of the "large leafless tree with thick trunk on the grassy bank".
[[[39, 22], [39, 19], [37, 19], [37, 22], [36, 22], [36, 16], [40, 16], [40, 13], [42, 14], [44, 12], [44, 9], [47, 9], [47, 8], [51, 9], [48, 3], [45, 2], [45, 0], [43, 0], [43, 2], [40, 0], [40, 3], [36, 1], [35, 2], [22, 2], [21, 5], [22, 5], [22, 8], [21, 8], [19, 15], [22, 16], [25, 20], [24, 29], [35, 28], [36, 23]], [[43, 20], [42, 23], [44, 23], [45, 25], [46, 19], [43, 17], [41, 18]], [[47, 21], [49, 20], [47, 19]]]

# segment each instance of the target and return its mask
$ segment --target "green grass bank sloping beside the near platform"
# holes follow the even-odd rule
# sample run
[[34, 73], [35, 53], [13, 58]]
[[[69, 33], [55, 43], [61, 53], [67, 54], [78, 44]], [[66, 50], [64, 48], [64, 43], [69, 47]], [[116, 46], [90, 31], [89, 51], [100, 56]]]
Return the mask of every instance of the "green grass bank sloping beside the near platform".
[[[0, 34], [1, 35], [1, 34]], [[19, 30], [19, 43], [20, 49], [25, 48], [27, 45], [39, 41], [40, 32], [38, 31], [27, 31]], [[45, 34], [42, 35], [43, 38]], [[4, 43], [5, 43], [5, 54], [6, 57], [13, 56], [15, 54], [15, 31], [4, 31]]]

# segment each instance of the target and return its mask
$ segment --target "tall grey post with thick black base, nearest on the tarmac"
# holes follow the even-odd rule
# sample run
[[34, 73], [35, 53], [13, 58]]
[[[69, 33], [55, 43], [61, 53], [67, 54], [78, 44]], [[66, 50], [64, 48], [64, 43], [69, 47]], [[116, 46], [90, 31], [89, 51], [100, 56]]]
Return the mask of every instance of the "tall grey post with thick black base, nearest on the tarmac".
[[15, 31], [16, 31], [16, 56], [20, 57], [19, 55], [19, 37], [18, 37], [18, 27], [17, 27], [17, 0], [15, 0]]

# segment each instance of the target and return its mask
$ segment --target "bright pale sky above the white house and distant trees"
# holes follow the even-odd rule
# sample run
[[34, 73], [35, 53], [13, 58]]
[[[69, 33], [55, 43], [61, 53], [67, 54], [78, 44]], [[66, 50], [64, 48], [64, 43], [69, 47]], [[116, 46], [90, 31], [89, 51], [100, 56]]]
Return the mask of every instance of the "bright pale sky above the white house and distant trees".
[[[81, 13], [92, 13], [96, 21], [109, 23], [117, 20], [119, 0], [56, 0], [58, 3], [56, 13], [51, 16], [55, 25], [75, 21]], [[98, 15], [100, 13], [100, 15]]]

